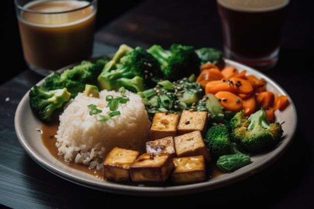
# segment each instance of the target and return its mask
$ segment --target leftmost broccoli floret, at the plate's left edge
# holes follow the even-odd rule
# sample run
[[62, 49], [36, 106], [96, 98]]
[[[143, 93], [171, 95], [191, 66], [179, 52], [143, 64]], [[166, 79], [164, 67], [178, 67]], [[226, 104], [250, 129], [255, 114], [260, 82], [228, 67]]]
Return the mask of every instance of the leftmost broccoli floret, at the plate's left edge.
[[34, 86], [29, 92], [29, 104], [33, 113], [44, 123], [54, 121], [58, 109], [62, 109], [71, 98], [66, 88], [47, 90], [42, 86]]

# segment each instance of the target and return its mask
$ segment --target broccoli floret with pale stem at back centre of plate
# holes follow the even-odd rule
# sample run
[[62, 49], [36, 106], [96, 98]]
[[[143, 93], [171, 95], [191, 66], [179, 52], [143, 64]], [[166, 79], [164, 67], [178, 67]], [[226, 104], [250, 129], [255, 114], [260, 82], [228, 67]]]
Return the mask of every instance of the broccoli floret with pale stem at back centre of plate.
[[201, 60], [193, 46], [172, 44], [168, 51], [160, 45], [152, 45], [147, 51], [160, 63], [165, 80], [177, 81], [200, 73]]

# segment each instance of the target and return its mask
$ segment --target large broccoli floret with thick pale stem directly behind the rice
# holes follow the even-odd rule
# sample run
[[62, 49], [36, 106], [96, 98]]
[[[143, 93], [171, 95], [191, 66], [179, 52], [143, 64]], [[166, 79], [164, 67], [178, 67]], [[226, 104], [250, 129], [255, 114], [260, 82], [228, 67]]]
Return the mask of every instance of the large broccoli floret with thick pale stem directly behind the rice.
[[124, 87], [133, 92], [143, 91], [154, 87], [156, 78], [162, 75], [157, 60], [141, 47], [134, 50], [119, 47], [114, 57], [116, 58], [104, 66], [97, 78], [100, 90]]

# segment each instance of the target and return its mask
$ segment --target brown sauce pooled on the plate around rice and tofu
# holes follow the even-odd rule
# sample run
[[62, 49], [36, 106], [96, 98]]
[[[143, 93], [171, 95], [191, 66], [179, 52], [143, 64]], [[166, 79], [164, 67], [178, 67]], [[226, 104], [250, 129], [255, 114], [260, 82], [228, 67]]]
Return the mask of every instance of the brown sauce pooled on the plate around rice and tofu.
[[[57, 160], [59, 160], [61, 163], [63, 163], [64, 165], [67, 165], [73, 169], [91, 174], [95, 176], [96, 178], [103, 179], [102, 171], [96, 170], [96, 169], [90, 169], [86, 165], [83, 165], [83, 164], [77, 164], [75, 162], [65, 161], [63, 155], [58, 154], [58, 148], [55, 145], [57, 141], [57, 138], [55, 137], [55, 135], [58, 130], [58, 125], [59, 125], [58, 123], [54, 123], [51, 125], [42, 124], [41, 126], [41, 130], [42, 130], [41, 139], [44, 146], [49, 150], [49, 153], [52, 156], [54, 156]], [[208, 167], [208, 171], [207, 171], [208, 180], [224, 174], [222, 171], [218, 169], [216, 165], [213, 165], [212, 163], [209, 163], [207, 167]], [[129, 184], [136, 185], [136, 183], [134, 182], [130, 182]], [[171, 185], [171, 183], [169, 184]], [[167, 182], [167, 185], [168, 185], [168, 182]], [[163, 186], [165, 185], [163, 184]]]

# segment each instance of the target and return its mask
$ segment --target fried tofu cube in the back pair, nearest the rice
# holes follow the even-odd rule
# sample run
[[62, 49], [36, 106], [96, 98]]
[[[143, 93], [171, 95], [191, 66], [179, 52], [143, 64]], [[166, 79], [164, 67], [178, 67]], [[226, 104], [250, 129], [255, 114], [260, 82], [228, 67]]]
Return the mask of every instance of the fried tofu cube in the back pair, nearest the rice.
[[150, 140], [177, 136], [180, 116], [168, 112], [156, 112], [152, 118], [150, 128]]

